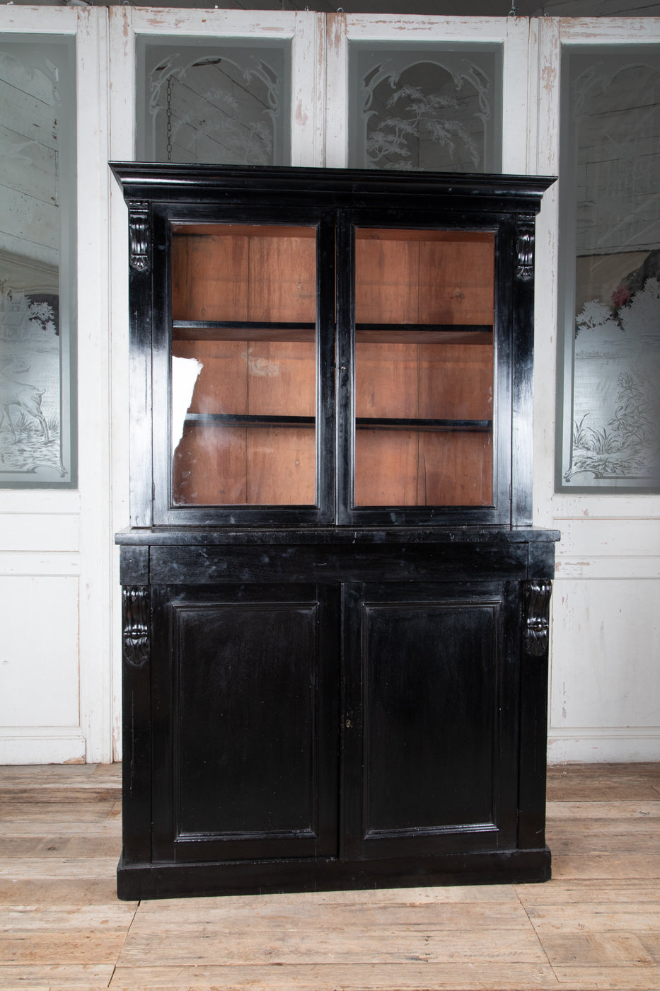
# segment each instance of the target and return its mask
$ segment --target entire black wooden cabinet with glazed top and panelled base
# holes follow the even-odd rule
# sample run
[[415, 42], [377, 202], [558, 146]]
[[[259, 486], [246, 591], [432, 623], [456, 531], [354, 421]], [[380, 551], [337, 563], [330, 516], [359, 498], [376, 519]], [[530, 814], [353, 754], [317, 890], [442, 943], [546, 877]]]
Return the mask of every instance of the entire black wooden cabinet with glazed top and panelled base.
[[542, 880], [549, 180], [113, 165], [120, 897]]

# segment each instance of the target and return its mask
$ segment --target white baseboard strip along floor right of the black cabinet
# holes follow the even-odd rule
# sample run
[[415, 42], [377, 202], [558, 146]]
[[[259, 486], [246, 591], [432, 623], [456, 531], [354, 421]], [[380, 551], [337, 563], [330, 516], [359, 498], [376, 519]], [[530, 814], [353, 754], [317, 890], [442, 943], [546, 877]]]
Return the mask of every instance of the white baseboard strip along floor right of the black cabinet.
[[548, 763], [625, 763], [660, 761], [660, 729], [609, 727], [550, 729]]

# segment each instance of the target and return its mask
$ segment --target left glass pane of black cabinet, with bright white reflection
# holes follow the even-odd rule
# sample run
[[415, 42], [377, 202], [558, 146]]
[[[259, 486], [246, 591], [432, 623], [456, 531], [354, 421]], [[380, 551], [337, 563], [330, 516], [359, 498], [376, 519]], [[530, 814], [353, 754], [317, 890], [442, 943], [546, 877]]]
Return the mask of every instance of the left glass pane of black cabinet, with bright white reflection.
[[174, 505], [313, 505], [315, 230], [177, 226], [172, 317]]

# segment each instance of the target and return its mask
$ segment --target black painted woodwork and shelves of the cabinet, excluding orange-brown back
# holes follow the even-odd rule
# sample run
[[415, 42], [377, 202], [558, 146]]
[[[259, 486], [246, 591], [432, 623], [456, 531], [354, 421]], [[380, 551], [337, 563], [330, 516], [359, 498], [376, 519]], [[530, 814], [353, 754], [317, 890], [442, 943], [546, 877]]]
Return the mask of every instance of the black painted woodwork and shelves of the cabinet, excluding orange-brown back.
[[[533, 220], [550, 180], [113, 170], [132, 217], [120, 897], [546, 879], [559, 535], [530, 525], [530, 424]], [[315, 328], [172, 321], [173, 225], [223, 222], [316, 228]], [[495, 233], [493, 327], [356, 328], [357, 226]], [[493, 421], [356, 422], [356, 333], [439, 329], [493, 332]], [[244, 330], [315, 332], [313, 417], [211, 414], [315, 425], [315, 504], [173, 505], [172, 335]], [[355, 432], [375, 425], [492, 430], [493, 504], [354, 505]]]

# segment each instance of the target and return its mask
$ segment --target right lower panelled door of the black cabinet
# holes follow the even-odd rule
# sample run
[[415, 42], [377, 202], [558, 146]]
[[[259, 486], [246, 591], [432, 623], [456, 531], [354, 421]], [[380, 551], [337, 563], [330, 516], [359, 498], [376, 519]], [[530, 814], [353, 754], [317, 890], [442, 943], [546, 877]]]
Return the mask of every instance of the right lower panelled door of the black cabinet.
[[515, 847], [517, 589], [345, 589], [347, 859]]

